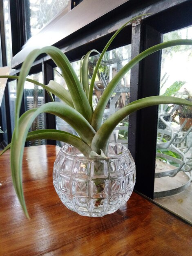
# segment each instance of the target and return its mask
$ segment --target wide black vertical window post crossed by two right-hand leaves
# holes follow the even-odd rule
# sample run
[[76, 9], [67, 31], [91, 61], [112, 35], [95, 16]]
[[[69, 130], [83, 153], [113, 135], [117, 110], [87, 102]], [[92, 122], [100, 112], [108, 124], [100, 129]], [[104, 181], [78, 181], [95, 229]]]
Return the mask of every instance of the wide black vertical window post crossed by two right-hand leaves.
[[[143, 48], [161, 42], [162, 35], [149, 25], [143, 25]], [[138, 97], [159, 95], [161, 52], [145, 58], [140, 65]], [[158, 106], [138, 111], [136, 120], [136, 169], [135, 189], [153, 198], [156, 161]]]

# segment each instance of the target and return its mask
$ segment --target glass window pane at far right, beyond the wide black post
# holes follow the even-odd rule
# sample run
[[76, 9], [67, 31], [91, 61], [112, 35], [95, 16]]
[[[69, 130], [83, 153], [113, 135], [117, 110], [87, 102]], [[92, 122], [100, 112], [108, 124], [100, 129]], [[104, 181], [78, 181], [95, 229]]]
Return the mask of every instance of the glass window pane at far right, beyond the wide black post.
[[[167, 33], [163, 36], [163, 41], [181, 38], [192, 39], [192, 27]], [[192, 101], [191, 66], [190, 46], [164, 49], [160, 94]], [[155, 201], [192, 221], [192, 209], [189, 208], [192, 205], [192, 108], [160, 106], [158, 127]]]

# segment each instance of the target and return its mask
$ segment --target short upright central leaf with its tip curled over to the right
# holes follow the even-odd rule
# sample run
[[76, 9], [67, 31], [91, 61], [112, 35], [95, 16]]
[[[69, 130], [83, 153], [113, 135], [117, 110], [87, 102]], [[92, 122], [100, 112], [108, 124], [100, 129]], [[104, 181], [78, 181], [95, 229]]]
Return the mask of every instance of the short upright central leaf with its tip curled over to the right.
[[[82, 84], [83, 84], [83, 88], [85, 90], [85, 94], [86, 94], [87, 98], [89, 97], [89, 69], [88, 69], [88, 65], [89, 65], [89, 57], [90, 57], [90, 54], [92, 54], [92, 52], [100, 54], [97, 50], [91, 50], [91, 51], [87, 52], [87, 54], [83, 58], [82, 69], [81, 69]], [[91, 101], [91, 103], [89, 102], [89, 104], [92, 108], [92, 101]]]

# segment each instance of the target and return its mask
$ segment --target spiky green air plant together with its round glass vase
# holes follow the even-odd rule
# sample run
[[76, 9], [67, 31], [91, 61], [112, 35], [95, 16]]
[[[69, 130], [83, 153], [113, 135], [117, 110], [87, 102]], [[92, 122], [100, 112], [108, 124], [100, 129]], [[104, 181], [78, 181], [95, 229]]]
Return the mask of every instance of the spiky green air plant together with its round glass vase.
[[[155, 45], [129, 61], [109, 82], [95, 110], [93, 110], [94, 81], [103, 55], [123, 27], [140, 17], [137, 16], [129, 20], [109, 40], [98, 58], [90, 85], [89, 56], [94, 52], [98, 54], [96, 50], [89, 51], [82, 57], [80, 79], [78, 79], [65, 54], [53, 46], [33, 50], [22, 64], [20, 76], [7, 76], [11, 79], [18, 79], [18, 86], [15, 129], [11, 145], [8, 145], [3, 152], [11, 147], [13, 185], [27, 216], [22, 189], [22, 156], [26, 140], [55, 139], [68, 143], [60, 150], [54, 164], [53, 180], [55, 189], [62, 202], [69, 209], [85, 216], [103, 216], [116, 211], [129, 199], [135, 183], [135, 164], [129, 150], [121, 144], [109, 144], [109, 137], [114, 128], [127, 115], [141, 108], [168, 103], [192, 106], [192, 102], [176, 97], [147, 97], [129, 103], [108, 117], [102, 124], [105, 106], [114, 88], [126, 72], [143, 58], [160, 49], [174, 45], [192, 45], [192, 40], [173, 40]], [[48, 85], [44, 85], [37, 81], [26, 79], [33, 61], [40, 54], [45, 53], [49, 54], [60, 68], [68, 90], [65, 90], [55, 81], [50, 81]], [[53, 101], [52, 94], [55, 94], [63, 102], [45, 103], [40, 108], [28, 110], [19, 117], [25, 80], [42, 86], [49, 92]], [[47, 129], [28, 132], [32, 121], [41, 112], [51, 113], [62, 118], [76, 130], [79, 137], [60, 130]]]

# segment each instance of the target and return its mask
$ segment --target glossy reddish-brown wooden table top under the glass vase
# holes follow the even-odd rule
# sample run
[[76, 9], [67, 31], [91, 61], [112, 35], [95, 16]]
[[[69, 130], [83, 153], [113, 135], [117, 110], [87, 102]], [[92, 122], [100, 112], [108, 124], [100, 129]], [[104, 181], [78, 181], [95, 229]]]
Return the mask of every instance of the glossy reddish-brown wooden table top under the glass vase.
[[25, 148], [23, 185], [31, 220], [11, 182], [9, 151], [0, 157], [0, 255], [190, 256], [192, 228], [133, 193], [120, 210], [102, 218], [68, 210], [52, 184], [59, 148]]

